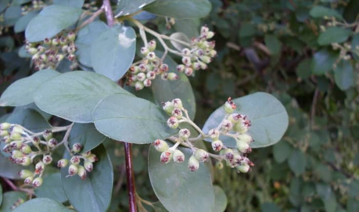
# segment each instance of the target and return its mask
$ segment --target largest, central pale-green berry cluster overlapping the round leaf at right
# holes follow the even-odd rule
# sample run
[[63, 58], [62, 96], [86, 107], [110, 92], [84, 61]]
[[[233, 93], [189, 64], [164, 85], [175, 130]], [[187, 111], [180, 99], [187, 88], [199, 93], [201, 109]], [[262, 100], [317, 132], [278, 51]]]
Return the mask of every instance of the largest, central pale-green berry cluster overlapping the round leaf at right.
[[[187, 110], [183, 107], [180, 99], [174, 99], [171, 102], [163, 103], [163, 109], [170, 115], [167, 124], [169, 127], [176, 129], [179, 123], [187, 122], [196, 129], [200, 135], [195, 138], [190, 138], [191, 132], [189, 129], [181, 129], [177, 136], [168, 138], [175, 145], [169, 147], [169, 145], [161, 139], [157, 139], [153, 142], [153, 146], [159, 152], [161, 152], [161, 162], [168, 163], [173, 159], [175, 162], [183, 162], [185, 155], [183, 152], [177, 149], [179, 145], [183, 145], [192, 150], [192, 156], [188, 159], [188, 168], [191, 171], [196, 171], [200, 167], [200, 162], [206, 161], [209, 157], [213, 157], [218, 160], [216, 166], [222, 169], [222, 160], [225, 160], [227, 166], [236, 168], [238, 172], [246, 173], [250, 170], [250, 166], [254, 164], [247, 158], [247, 154], [252, 151], [249, 144], [253, 142], [252, 137], [247, 134], [251, 122], [246, 115], [233, 113], [236, 109], [235, 103], [228, 98], [225, 103], [224, 109], [226, 115], [220, 125], [216, 128], [209, 130], [207, 134], [202, 132], [198, 126], [196, 126], [188, 116]], [[236, 140], [237, 149], [230, 149], [224, 146], [220, 140], [220, 135], [230, 136]], [[219, 155], [211, 154], [203, 149], [196, 148], [192, 142], [196, 140], [202, 140], [204, 138], [210, 138], [212, 140], [211, 146], [214, 152], [220, 152]]]

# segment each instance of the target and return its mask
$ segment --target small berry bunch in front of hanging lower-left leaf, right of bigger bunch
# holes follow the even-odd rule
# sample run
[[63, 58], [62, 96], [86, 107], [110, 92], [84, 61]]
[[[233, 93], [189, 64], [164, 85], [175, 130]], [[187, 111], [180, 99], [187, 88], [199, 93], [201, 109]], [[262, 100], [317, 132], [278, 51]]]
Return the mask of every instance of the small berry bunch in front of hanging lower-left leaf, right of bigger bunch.
[[[73, 153], [79, 153], [82, 149], [81, 144], [74, 144], [72, 146], [72, 152]], [[83, 164], [80, 164], [81, 159], [83, 160]], [[97, 156], [95, 154], [92, 154], [91, 151], [87, 151], [82, 154], [73, 155], [70, 158], [70, 166], [68, 168], [67, 177], [78, 175], [81, 177], [81, 179], [86, 179], [87, 172], [92, 172], [93, 170], [93, 162], [96, 162], [98, 160]], [[69, 164], [68, 159], [61, 159], [57, 161], [57, 167], [58, 168], [65, 168]], [[87, 171], [87, 172], [86, 172]]]

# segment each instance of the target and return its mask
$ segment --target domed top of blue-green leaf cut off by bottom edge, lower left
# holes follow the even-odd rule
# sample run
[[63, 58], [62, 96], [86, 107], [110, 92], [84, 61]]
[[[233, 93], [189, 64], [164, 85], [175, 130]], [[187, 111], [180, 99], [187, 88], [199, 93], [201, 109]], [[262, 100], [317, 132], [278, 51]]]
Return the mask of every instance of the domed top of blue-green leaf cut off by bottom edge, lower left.
[[48, 198], [35, 198], [17, 206], [13, 212], [73, 212], [63, 204]]

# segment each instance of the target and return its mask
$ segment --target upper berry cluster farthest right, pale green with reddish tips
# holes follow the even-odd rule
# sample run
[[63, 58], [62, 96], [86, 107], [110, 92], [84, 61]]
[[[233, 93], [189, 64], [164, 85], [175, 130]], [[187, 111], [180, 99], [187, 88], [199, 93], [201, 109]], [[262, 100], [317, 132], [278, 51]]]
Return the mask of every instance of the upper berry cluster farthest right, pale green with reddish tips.
[[187, 76], [193, 76], [194, 70], [207, 69], [207, 64], [217, 55], [214, 50], [215, 41], [207, 41], [214, 36], [207, 26], [201, 28], [201, 35], [192, 38], [191, 49], [182, 50], [182, 63], [177, 65], [178, 72], [184, 72]]

